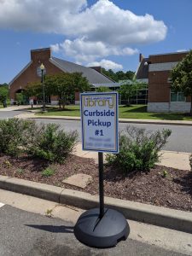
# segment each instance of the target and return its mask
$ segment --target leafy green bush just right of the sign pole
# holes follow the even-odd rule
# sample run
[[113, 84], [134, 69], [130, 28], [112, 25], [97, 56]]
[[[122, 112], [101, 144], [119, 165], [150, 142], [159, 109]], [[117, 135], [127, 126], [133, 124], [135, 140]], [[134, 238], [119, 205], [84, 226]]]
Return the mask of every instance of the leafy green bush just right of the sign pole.
[[171, 133], [171, 130], [152, 132], [127, 126], [119, 134], [119, 154], [108, 154], [106, 160], [124, 172], [148, 172], [159, 161], [160, 149]]

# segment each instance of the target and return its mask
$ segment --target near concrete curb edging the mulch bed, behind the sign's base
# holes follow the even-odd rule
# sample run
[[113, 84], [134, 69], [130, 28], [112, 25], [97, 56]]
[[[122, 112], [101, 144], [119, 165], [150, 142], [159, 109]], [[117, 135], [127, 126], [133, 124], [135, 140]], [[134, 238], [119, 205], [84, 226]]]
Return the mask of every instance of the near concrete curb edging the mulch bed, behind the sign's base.
[[[0, 176], [0, 188], [83, 209], [98, 207], [97, 195], [90, 195], [72, 189], [62, 189], [15, 177]], [[105, 206], [122, 212], [125, 218], [128, 219], [192, 233], [192, 212], [154, 207], [139, 202], [119, 200], [107, 196], [105, 197]]]

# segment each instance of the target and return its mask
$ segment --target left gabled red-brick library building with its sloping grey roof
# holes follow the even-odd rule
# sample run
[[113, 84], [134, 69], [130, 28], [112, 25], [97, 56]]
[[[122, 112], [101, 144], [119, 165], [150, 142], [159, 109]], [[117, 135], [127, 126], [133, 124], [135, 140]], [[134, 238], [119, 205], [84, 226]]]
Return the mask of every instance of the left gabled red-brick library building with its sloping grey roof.
[[[95, 86], [96, 84], [114, 84], [111, 79], [102, 74], [101, 67], [84, 67], [73, 62], [63, 61], [52, 56], [50, 48], [32, 49], [31, 61], [9, 83], [9, 96], [12, 104], [16, 101], [16, 94], [25, 90], [28, 83], [41, 80], [37, 73], [41, 63], [44, 64], [47, 74], [79, 72], [88, 79], [90, 84]], [[35, 103], [37, 100], [36, 97], [31, 97], [29, 103]], [[51, 96], [47, 101], [55, 105], [58, 103], [58, 97]], [[75, 102], [79, 102], [79, 93], [75, 93]]]

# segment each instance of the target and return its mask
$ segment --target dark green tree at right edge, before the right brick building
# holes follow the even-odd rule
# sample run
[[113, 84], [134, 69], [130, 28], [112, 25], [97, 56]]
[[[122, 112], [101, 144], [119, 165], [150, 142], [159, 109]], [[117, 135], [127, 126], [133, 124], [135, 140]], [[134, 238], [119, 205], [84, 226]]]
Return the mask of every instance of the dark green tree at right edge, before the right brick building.
[[174, 91], [180, 91], [184, 96], [190, 96], [190, 115], [192, 115], [192, 50], [172, 69], [171, 79]]

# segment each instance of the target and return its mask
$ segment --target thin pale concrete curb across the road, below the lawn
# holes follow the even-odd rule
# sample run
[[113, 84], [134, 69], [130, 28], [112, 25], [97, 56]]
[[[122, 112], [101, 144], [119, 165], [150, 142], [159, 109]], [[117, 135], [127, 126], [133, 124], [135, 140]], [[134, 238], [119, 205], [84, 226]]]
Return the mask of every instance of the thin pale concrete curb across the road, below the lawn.
[[[32, 112], [31, 112], [32, 113]], [[26, 115], [26, 116], [25, 116]], [[32, 114], [20, 114], [15, 116], [18, 118], [25, 119], [60, 119], [60, 120], [76, 120], [79, 121], [79, 117], [70, 117], [70, 116], [40, 116]], [[127, 124], [150, 124], [150, 125], [185, 125], [192, 126], [192, 121], [177, 121], [177, 120], [160, 120], [160, 119], [119, 119], [119, 123]]]

